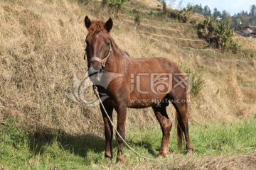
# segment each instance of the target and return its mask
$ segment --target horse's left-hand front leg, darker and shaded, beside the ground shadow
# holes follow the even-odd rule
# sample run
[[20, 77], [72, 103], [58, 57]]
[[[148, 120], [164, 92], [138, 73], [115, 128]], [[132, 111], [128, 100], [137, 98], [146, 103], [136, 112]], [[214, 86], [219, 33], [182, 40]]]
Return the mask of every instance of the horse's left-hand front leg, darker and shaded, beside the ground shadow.
[[[110, 106], [105, 105], [105, 110], [107, 111], [107, 114], [110, 116], [112, 120], [112, 113], [113, 113], [113, 108]], [[110, 120], [107, 118], [107, 115], [100, 106], [100, 111], [102, 112], [102, 117], [104, 121], [104, 128], [105, 128], [105, 157], [109, 157], [112, 159], [113, 157], [113, 149], [112, 149], [112, 139], [113, 139], [113, 127], [110, 123]]]

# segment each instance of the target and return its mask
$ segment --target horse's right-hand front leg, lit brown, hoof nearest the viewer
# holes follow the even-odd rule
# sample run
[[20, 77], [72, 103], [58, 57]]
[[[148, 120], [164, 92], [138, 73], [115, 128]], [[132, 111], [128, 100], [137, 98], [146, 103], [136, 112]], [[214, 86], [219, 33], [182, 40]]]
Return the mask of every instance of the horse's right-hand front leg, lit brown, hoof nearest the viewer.
[[[119, 135], [124, 139], [125, 138], [125, 120], [126, 120], [126, 114], [127, 114], [127, 106], [124, 104], [119, 104], [119, 106], [116, 108], [117, 111], [117, 132], [119, 132]], [[123, 141], [121, 137], [116, 134], [117, 137], [117, 163], [124, 163], [124, 154], [122, 152], [122, 145]]]

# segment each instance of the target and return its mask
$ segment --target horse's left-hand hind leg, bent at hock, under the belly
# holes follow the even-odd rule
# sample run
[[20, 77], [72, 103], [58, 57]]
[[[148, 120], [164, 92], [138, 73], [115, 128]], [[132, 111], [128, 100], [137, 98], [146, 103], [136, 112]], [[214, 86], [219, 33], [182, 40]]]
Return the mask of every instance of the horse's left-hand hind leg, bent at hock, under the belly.
[[166, 105], [161, 104], [161, 106], [153, 106], [154, 113], [157, 120], [160, 123], [161, 131], [163, 133], [161, 141], [161, 149], [159, 154], [156, 157], [162, 157], [169, 154], [169, 137], [171, 131], [171, 120], [169, 119], [166, 113]]

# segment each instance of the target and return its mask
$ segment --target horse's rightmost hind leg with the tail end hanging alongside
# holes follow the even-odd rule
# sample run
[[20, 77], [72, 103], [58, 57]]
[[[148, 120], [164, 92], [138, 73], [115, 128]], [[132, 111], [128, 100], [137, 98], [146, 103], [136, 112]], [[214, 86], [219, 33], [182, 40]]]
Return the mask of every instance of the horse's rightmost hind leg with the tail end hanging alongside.
[[181, 149], [181, 142], [182, 142], [182, 137], [183, 137], [183, 133], [184, 133], [185, 140], [186, 140], [185, 154], [188, 152], [192, 152], [193, 147], [191, 145], [191, 140], [190, 140], [189, 134], [188, 134], [188, 118], [186, 115], [188, 113], [188, 101], [186, 100], [186, 97], [183, 99], [181, 99], [181, 98], [175, 99], [174, 98], [172, 103], [176, 109], [178, 149]]

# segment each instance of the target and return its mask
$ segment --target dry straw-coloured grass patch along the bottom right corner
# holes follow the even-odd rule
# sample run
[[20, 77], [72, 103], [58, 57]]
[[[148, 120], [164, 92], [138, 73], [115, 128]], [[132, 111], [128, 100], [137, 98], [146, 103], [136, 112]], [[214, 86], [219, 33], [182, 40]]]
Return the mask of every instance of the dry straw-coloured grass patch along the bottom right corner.
[[[164, 164], [163, 164], [164, 163]], [[191, 156], [171, 157], [163, 163], [137, 164], [129, 169], [255, 169], [256, 153], [198, 158]]]

